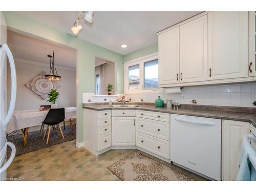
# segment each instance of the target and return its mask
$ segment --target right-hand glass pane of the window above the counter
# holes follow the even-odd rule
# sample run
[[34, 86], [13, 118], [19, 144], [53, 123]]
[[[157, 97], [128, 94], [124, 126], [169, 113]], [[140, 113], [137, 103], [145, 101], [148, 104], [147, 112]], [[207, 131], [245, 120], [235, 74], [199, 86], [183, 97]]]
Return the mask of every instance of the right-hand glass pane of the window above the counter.
[[144, 89], [158, 88], [158, 59], [144, 62]]

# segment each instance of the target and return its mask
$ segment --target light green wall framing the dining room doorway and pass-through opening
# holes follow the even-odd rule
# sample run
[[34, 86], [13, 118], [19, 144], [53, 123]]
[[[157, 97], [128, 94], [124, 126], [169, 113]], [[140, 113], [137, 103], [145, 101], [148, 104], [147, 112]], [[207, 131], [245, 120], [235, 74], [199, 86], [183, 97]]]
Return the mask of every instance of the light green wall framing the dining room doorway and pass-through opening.
[[[83, 141], [82, 93], [94, 93], [94, 59], [102, 57], [117, 62], [117, 93], [123, 93], [123, 56], [113, 51], [76, 38], [71, 34], [52, 28], [17, 12], [4, 12], [7, 26], [40, 38], [77, 49], [77, 142]], [[36, 49], [36, 48], [35, 48]], [[20, 95], [18, 95], [20, 97]]]

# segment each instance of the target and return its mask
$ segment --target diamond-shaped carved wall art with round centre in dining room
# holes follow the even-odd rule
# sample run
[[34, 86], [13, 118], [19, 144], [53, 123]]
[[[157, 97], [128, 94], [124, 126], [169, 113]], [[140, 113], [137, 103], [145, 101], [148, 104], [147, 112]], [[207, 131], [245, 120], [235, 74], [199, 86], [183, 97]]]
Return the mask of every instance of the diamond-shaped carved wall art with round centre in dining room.
[[33, 79], [24, 84], [27, 88], [40, 96], [42, 99], [48, 98], [48, 93], [52, 89], [58, 89], [60, 85], [58, 82], [51, 82], [45, 79], [46, 72], [43, 71]]

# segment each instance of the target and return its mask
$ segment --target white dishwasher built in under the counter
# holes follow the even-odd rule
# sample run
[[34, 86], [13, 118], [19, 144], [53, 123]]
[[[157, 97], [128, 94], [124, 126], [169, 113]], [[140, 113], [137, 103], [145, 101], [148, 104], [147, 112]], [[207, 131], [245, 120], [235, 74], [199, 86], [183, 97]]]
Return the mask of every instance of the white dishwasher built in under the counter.
[[215, 180], [221, 180], [221, 120], [171, 115], [170, 159]]

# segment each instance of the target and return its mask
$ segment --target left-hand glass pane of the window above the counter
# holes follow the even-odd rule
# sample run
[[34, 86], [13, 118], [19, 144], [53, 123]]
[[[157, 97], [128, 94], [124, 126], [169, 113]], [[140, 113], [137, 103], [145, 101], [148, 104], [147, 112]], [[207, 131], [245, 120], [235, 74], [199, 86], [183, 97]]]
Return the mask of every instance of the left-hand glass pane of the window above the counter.
[[129, 67], [129, 90], [140, 89], [140, 65]]

